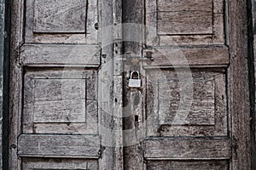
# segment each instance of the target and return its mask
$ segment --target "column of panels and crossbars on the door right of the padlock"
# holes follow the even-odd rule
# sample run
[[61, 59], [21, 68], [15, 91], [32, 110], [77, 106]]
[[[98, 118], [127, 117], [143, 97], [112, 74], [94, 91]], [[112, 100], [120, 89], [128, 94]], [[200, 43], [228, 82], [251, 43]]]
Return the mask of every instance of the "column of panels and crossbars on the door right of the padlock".
[[147, 169], [230, 167], [224, 4], [146, 0]]

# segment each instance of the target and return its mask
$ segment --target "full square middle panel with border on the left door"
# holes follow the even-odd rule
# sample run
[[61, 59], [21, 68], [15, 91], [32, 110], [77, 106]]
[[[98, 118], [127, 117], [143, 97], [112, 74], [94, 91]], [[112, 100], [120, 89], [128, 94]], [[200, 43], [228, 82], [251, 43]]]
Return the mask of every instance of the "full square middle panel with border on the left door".
[[28, 69], [24, 82], [23, 132], [96, 133], [96, 88], [97, 74], [93, 70]]

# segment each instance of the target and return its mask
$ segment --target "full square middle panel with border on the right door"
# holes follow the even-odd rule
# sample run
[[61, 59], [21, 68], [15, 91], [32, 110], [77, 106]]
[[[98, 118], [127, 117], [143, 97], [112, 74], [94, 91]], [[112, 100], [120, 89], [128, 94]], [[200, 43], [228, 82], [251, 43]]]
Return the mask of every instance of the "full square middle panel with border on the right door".
[[148, 136], [227, 135], [224, 70], [190, 71], [191, 80], [186, 70], [147, 71]]

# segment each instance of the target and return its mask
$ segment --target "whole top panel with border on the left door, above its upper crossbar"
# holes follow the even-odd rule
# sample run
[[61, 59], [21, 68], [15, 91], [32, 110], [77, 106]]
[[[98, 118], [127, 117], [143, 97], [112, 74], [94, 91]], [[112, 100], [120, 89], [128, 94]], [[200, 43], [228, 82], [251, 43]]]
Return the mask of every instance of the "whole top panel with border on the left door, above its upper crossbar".
[[98, 44], [98, 4], [95, 0], [26, 1], [24, 41]]

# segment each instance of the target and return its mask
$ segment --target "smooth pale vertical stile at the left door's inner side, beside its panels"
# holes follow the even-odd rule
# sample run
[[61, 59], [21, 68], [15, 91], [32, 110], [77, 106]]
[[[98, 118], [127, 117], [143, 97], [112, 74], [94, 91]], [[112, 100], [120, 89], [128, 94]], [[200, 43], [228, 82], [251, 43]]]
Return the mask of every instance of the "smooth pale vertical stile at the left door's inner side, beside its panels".
[[114, 169], [113, 130], [113, 0], [100, 1], [100, 41], [102, 42], [102, 67], [99, 71], [99, 133], [102, 136], [102, 159], [99, 169]]

